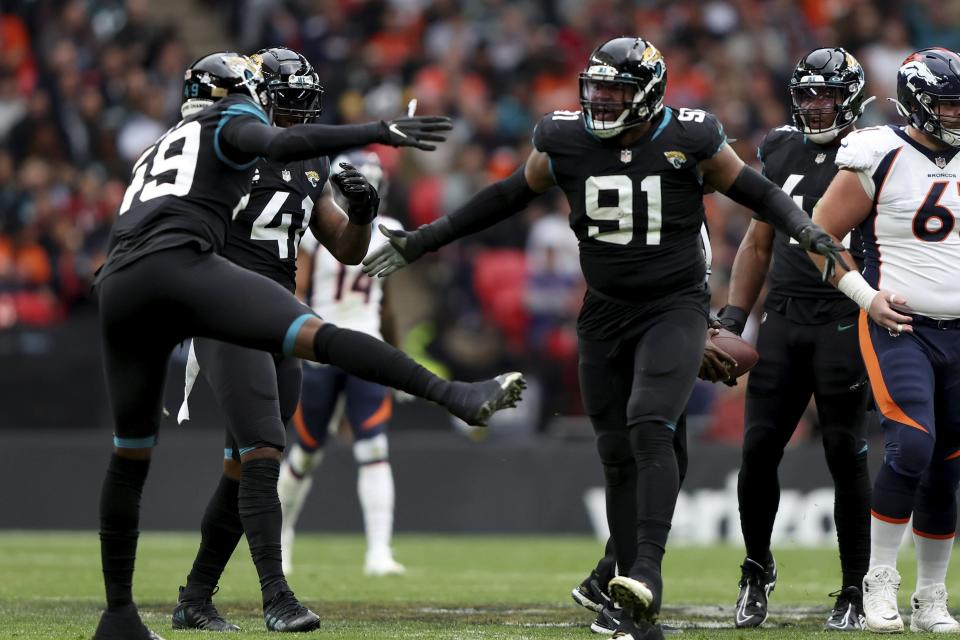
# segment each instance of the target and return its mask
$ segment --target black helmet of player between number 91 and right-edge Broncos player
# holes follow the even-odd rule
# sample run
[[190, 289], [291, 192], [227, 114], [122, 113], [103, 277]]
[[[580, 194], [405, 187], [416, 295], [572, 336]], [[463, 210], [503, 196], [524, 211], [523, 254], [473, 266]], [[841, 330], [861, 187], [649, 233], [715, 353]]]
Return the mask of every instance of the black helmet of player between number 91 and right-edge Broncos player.
[[794, 125], [814, 142], [830, 142], [873, 100], [864, 95], [865, 85], [863, 67], [845, 49], [814, 49], [790, 78]]

